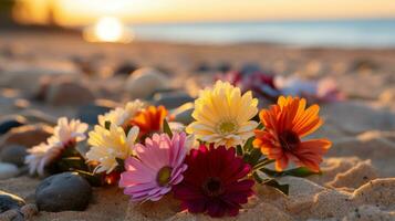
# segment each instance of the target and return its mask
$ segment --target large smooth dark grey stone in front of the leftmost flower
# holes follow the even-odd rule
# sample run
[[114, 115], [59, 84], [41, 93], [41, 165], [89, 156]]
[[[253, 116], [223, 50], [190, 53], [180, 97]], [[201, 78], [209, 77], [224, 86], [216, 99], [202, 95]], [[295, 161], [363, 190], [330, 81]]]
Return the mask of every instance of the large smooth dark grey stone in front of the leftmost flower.
[[91, 196], [90, 183], [76, 172], [51, 176], [35, 189], [35, 202], [39, 209], [49, 212], [85, 210]]

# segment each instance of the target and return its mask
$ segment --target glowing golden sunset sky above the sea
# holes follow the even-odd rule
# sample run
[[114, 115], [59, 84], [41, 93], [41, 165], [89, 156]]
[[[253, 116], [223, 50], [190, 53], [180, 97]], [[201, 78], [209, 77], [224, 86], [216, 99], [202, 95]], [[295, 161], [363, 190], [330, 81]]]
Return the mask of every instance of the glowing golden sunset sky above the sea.
[[19, 0], [15, 15], [85, 25], [112, 15], [129, 23], [395, 18], [395, 0]]

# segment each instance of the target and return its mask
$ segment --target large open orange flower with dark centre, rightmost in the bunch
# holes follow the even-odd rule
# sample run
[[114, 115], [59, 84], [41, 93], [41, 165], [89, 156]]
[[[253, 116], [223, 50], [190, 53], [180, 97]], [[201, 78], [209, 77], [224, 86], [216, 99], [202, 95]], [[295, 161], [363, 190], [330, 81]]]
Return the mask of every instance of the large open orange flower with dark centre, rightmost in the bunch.
[[301, 140], [323, 124], [319, 117], [319, 105], [309, 108], [305, 105], [304, 98], [280, 96], [277, 105], [259, 113], [264, 129], [256, 129], [253, 146], [269, 159], [276, 159], [279, 171], [285, 169], [290, 160], [319, 171], [322, 155], [332, 145], [328, 139]]

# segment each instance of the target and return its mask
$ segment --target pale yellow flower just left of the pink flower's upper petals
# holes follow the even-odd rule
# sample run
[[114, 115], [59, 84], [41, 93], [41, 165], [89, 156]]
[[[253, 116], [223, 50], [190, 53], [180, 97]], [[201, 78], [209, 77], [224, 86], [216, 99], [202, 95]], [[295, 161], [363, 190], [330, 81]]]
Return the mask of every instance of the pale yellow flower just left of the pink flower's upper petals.
[[96, 125], [89, 134], [87, 143], [92, 146], [86, 152], [87, 161], [97, 161], [94, 172], [112, 172], [117, 166], [117, 159], [125, 160], [133, 154], [133, 146], [138, 136], [138, 127], [132, 127], [128, 134], [116, 125], [110, 129]]

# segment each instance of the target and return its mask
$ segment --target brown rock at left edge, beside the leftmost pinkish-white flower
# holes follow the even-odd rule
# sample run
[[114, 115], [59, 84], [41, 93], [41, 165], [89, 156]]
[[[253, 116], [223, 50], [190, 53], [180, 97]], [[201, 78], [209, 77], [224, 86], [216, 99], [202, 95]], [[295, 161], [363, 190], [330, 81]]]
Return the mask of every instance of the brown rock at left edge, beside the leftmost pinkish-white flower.
[[0, 149], [15, 144], [24, 147], [32, 147], [45, 141], [52, 135], [52, 127], [44, 124], [24, 125], [17, 127], [3, 135]]

